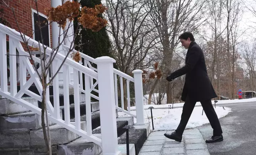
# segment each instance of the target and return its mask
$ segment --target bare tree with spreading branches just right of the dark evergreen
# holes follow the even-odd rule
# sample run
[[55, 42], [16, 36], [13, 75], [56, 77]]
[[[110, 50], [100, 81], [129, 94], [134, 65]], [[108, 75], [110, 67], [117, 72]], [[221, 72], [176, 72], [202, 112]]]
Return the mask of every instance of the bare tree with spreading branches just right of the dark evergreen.
[[[145, 58], [154, 52], [158, 43], [158, 36], [153, 35], [155, 26], [149, 24], [148, 15], [153, 5], [145, 8], [145, 0], [107, 0], [107, 18], [109, 20], [108, 32], [111, 34], [112, 53], [118, 68], [130, 74], [132, 70], [145, 64], [150, 64], [152, 59]], [[124, 95], [126, 83], [123, 83]], [[127, 109], [127, 100], [124, 97], [124, 108]]]

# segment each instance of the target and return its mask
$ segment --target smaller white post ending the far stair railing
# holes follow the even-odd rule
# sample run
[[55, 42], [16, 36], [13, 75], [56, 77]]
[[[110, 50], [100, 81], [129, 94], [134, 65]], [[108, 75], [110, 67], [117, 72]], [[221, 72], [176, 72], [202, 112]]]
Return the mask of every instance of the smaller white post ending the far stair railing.
[[135, 104], [137, 125], [145, 124], [144, 104], [143, 104], [143, 86], [142, 86], [142, 70], [132, 71], [134, 74]]

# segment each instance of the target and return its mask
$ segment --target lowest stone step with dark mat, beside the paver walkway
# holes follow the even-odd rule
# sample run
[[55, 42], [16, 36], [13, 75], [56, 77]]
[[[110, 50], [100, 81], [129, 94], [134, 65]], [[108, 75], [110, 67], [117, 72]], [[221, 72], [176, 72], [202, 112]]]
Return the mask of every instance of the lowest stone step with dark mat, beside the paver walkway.
[[[150, 124], [134, 125], [134, 129], [129, 129], [129, 144], [134, 144], [136, 155], [139, 154], [144, 142], [150, 133]], [[118, 138], [118, 144], [126, 144], [126, 132]]]

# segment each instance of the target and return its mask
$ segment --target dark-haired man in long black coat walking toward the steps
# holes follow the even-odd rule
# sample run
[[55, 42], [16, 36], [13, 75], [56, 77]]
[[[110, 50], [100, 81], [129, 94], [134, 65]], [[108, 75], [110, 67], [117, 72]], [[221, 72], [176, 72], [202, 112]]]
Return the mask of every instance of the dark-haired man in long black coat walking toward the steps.
[[213, 136], [206, 140], [206, 143], [223, 141], [222, 129], [217, 114], [212, 106], [211, 98], [217, 97], [211, 81], [209, 80], [204, 53], [199, 45], [195, 42], [194, 36], [190, 32], [184, 32], [179, 37], [182, 46], [188, 49], [186, 54], [186, 65], [179, 70], [167, 76], [167, 81], [186, 74], [185, 84], [182, 91], [181, 100], [184, 106], [182, 110], [180, 124], [172, 134], [165, 134], [169, 139], [181, 142], [182, 134], [188, 123], [190, 115], [196, 105], [201, 102], [204, 112], [213, 128]]

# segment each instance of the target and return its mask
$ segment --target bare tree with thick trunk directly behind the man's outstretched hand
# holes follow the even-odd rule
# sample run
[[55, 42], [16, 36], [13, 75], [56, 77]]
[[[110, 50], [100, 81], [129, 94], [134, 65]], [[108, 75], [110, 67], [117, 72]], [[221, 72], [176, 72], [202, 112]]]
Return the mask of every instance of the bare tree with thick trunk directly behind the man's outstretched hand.
[[[192, 0], [150, 0], [148, 6], [154, 6], [150, 12], [151, 23], [157, 27], [155, 35], [161, 43], [163, 78], [172, 70], [173, 52], [177, 47], [178, 35], [185, 31], [195, 31], [202, 23], [204, 2]], [[159, 80], [158, 80], [159, 81]], [[157, 85], [157, 80], [154, 85]], [[167, 103], [172, 102], [171, 83], [166, 83]], [[155, 87], [152, 87], [154, 90]], [[153, 90], [151, 93], [153, 93]], [[151, 94], [149, 94], [150, 96]]]

